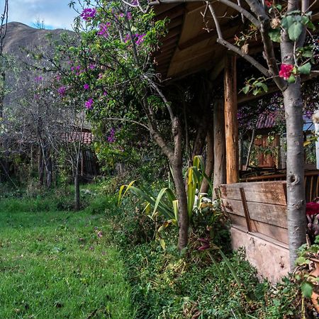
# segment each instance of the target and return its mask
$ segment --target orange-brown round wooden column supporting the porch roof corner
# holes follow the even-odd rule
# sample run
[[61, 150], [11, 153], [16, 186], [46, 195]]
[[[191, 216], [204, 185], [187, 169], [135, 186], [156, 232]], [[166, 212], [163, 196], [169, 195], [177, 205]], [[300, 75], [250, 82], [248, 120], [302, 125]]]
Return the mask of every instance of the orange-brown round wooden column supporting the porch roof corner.
[[225, 140], [226, 140], [226, 182], [237, 183], [238, 176], [238, 121], [237, 121], [237, 81], [236, 57], [225, 57]]

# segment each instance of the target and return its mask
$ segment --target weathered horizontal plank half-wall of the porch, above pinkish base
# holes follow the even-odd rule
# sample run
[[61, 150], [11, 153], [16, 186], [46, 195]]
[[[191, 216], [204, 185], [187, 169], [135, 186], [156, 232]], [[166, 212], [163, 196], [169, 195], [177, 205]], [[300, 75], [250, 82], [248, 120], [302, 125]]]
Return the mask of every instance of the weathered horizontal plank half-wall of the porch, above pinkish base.
[[233, 225], [288, 244], [286, 181], [223, 184], [220, 199]]

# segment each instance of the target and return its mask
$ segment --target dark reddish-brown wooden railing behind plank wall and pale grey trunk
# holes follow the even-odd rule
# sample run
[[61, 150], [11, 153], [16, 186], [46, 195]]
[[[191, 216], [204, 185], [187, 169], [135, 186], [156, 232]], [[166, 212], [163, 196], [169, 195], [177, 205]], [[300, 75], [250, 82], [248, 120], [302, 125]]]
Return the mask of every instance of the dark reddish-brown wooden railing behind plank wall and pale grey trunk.
[[[286, 180], [286, 174], [269, 174], [255, 177], [246, 177], [240, 181], [284, 181]], [[305, 192], [306, 201], [313, 201], [319, 197], [319, 170], [312, 170], [305, 172]]]

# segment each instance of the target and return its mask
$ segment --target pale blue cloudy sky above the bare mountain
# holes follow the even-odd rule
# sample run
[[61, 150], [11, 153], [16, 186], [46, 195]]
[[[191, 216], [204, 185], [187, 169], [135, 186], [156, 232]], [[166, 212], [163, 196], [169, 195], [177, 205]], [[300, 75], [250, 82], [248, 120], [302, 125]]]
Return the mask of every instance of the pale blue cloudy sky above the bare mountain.
[[[4, 0], [0, 0], [1, 11]], [[45, 28], [72, 29], [77, 12], [69, 9], [69, 0], [9, 0], [9, 21], [35, 27], [40, 21]]]

